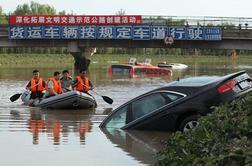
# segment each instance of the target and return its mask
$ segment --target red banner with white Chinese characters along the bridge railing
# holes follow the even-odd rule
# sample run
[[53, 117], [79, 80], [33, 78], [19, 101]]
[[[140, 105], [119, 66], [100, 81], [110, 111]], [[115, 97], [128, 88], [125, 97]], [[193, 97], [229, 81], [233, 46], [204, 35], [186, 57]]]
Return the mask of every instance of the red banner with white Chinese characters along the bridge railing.
[[11, 15], [10, 25], [134, 25], [141, 24], [141, 15]]

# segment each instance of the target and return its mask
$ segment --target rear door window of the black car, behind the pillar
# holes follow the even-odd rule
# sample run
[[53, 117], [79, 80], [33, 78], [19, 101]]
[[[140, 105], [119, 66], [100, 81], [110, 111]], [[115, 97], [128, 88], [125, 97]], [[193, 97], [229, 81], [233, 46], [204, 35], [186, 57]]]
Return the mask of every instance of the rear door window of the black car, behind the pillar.
[[132, 119], [138, 119], [164, 105], [167, 99], [160, 93], [151, 94], [132, 103]]

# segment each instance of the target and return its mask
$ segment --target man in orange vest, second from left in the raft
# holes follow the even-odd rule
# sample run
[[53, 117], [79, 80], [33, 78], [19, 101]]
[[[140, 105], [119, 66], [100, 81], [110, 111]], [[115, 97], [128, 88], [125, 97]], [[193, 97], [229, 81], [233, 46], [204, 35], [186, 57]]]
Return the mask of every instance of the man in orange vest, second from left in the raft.
[[62, 87], [60, 83], [60, 72], [54, 72], [54, 77], [51, 77], [46, 82], [46, 93], [45, 97], [56, 96], [62, 93]]

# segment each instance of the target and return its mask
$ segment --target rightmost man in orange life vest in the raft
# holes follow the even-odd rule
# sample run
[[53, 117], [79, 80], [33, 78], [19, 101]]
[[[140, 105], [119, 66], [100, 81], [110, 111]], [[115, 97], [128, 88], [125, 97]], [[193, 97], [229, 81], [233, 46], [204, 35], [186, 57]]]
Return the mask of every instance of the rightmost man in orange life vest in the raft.
[[87, 93], [89, 90], [92, 90], [94, 88], [86, 74], [86, 70], [80, 70], [79, 75], [76, 77], [73, 83], [73, 87], [75, 87], [75, 90]]

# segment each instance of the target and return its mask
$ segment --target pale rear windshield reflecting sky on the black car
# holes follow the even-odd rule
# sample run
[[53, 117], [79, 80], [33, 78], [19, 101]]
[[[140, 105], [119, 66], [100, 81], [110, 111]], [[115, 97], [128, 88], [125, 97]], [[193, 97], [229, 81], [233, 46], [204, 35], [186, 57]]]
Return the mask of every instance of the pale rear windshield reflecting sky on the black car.
[[169, 85], [172, 85], [172, 86], [203, 86], [203, 85], [209, 84], [211, 82], [214, 82], [220, 78], [221, 77], [219, 77], [219, 76], [192, 77], [192, 78], [181, 79], [179, 81], [174, 81]]

